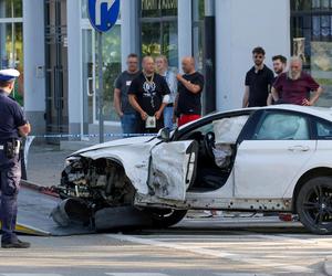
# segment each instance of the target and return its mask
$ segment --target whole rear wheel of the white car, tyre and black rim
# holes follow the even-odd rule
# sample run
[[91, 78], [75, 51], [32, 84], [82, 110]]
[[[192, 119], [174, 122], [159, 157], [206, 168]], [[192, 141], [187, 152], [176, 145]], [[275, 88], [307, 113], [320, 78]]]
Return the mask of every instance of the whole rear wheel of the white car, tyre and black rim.
[[332, 233], [332, 177], [309, 180], [300, 190], [297, 210], [301, 223], [312, 233]]

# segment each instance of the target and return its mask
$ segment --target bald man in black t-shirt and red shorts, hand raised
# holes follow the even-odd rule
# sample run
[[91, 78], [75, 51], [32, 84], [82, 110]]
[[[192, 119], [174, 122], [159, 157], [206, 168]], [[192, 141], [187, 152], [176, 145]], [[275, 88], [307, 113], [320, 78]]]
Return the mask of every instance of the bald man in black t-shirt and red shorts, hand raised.
[[200, 95], [204, 89], [204, 76], [196, 72], [194, 57], [183, 59], [183, 71], [184, 75], [177, 75], [178, 95], [174, 107], [174, 120], [177, 119], [178, 126], [200, 118]]

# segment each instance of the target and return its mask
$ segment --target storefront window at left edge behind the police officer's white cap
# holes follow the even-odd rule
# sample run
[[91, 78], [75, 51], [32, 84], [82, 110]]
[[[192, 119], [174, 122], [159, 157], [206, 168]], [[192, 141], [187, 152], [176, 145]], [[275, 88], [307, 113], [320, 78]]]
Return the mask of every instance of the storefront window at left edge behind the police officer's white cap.
[[22, 0], [0, 0], [0, 68], [21, 72], [12, 93], [23, 105], [23, 23]]

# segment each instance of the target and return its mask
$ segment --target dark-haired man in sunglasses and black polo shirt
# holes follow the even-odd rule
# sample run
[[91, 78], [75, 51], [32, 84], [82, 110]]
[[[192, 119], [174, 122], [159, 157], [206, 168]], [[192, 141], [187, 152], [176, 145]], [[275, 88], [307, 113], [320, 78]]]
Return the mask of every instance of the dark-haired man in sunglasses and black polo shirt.
[[273, 72], [264, 65], [266, 51], [262, 47], [252, 50], [255, 66], [246, 75], [246, 88], [242, 107], [266, 106], [273, 84]]

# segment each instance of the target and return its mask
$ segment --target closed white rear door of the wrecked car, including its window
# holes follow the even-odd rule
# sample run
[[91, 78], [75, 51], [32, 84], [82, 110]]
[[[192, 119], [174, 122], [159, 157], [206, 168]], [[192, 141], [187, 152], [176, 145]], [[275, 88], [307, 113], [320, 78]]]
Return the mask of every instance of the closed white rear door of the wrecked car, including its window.
[[281, 199], [317, 148], [305, 115], [262, 112], [238, 146], [235, 161], [235, 197]]

